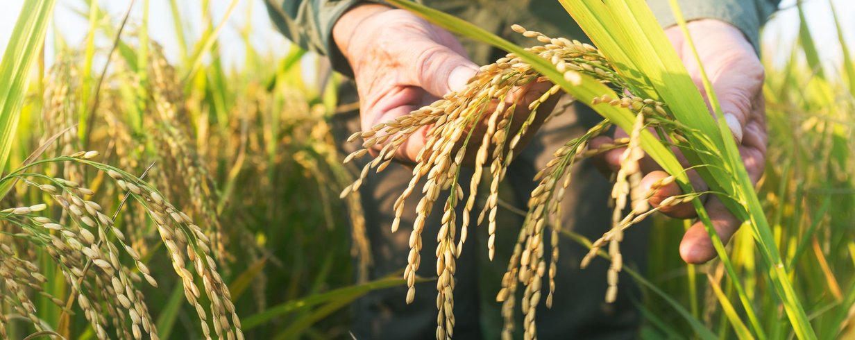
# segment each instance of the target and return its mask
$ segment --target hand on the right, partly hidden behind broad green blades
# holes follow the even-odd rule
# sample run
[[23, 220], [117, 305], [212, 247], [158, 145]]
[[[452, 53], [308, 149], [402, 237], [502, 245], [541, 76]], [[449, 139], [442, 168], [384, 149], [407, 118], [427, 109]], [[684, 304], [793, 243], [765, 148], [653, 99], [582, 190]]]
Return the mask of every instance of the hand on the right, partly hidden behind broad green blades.
[[[736, 144], [739, 145], [740, 155], [745, 163], [748, 175], [751, 177], [752, 183], [756, 184], [764, 172], [768, 139], [762, 91], [764, 83], [763, 65], [754, 52], [752, 44], [748, 42], [738, 28], [713, 19], [690, 21], [687, 26], [698, 50], [700, 61], [710, 78], [713, 89], [716, 91], [722, 113], [724, 113], [728, 126], [734, 133]], [[692, 76], [695, 85], [706, 98], [700, 68], [695, 62], [692, 50], [683, 37], [680, 27], [671, 26], [665, 30], [665, 33], [671, 44], [674, 45], [677, 55], [681, 57], [688, 73]], [[596, 147], [598, 144], [609, 143], [610, 139], [604, 137], [594, 139], [591, 146]], [[599, 161], [615, 169], [620, 167], [622, 152], [623, 149], [611, 150], [602, 155]], [[646, 163], [651, 162], [642, 161], [642, 167]], [[646, 191], [654, 182], [668, 176], [668, 173], [652, 167], [647, 167], [647, 171], [638, 190]], [[690, 171], [689, 176], [696, 191], [707, 190], [708, 186], [699, 178], [697, 173]], [[650, 198], [650, 202], [656, 207], [657, 203], [662, 202], [664, 198], [679, 194], [681, 194], [680, 188], [672, 183], [659, 189]], [[718, 236], [722, 238], [723, 243], [728, 243], [730, 237], [741, 226], [742, 221], [730, 214], [728, 208], [715, 196], [709, 196], [705, 208]], [[695, 216], [691, 203], [683, 203], [667, 209], [663, 208], [660, 211], [677, 218], [685, 219]], [[688, 263], [704, 263], [716, 257], [716, 250], [712, 246], [712, 241], [703, 222], [695, 221], [683, 236], [680, 244], [680, 255], [683, 261]]]

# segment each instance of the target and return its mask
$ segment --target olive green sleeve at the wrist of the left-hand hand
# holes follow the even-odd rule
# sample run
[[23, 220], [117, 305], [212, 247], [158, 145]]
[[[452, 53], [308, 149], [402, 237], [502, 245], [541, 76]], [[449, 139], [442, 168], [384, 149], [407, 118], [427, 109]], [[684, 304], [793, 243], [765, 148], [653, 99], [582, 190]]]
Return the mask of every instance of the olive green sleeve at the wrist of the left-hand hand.
[[294, 44], [328, 56], [334, 70], [353, 75], [333, 42], [333, 25], [360, 0], [265, 0], [264, 3], [276, 28]]

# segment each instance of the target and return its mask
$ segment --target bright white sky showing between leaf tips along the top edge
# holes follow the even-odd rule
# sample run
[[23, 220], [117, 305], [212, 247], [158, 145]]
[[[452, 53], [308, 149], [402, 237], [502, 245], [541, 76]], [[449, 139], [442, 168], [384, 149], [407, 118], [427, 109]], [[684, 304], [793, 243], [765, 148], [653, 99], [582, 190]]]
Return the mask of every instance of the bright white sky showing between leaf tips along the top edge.
[[[9, 42], [9, 36], [15, 27], [15, 21], [21, 11], [21, 6], [25, 1], [34, 0], [0, 1], [3, 2], [5, 7], [5, 10], [0, 11], [0, 53], [2, 53]], [[150, 37], [161, 44], [168, 59], [171, 62], [175, 62], [179, 58], [179, 44], [174, 34], [169, 0], [149, 1]], [[245, 29], [248, 22], [251, 23], [252, 27], [250, 36], [251, 44], [260, 53], [272, 56], [284, 56], [288, 50], [289, 43], [286, 38], [282, 37], [274, 29], [273, 24], [268, 18], [263, 1], [239, 0], [237, 9], [235, 9], [233, 15], [227, 21], [227, 25], [223, 28], [220, 44], [221, 46], [228, 46], [228, 48], [221, 51], [223, 62], [227, 66], [239, 67], [243, 62], [245, 49], [239, 32]], [[855, 21], [847, 20], [851, 18], [851, 15], [844, 15], [855, 13], [855, 1], [830, 1], [834, 3], [834, 7], [838, 11], [838, 17], [843, 21], [841, 24], [844, 26], [847, 41], [851, 42], [850, 46], [855, 46]], [[127, 9], [130, 0], [100, 0], [97, 2], [117, 22]], [[823, 61], [830, 65], [840, 58], [840, 44], [837, 42], [834, 19], [831, 15], [828, 2], [829, 0], [803, 0], [811, 32], [817, 42], [817, 46], [820, 47], [820, 56]], [[132, 23], [132, 26], [130, 26], [132, 29], [133, 23], [140, 22], [139, 18], [141, 17], [143, 3], [143, 0], [135, 3], [132, 18], [129, 21]], [[185, 18], [183, 24], [186, 36], [191, 41], [195, 41], [199, 32], [202, 31], [202, 15], [200, 6], [198, 5], [199, 2], [178, 1], [177, 3], [182, 17]], [[210, 3], [214, 20], [218, 23], [221, 21], [228, 4], [231, 2], [228, 0], [211, 0]], [[764, 41], [766, 43], [775, 42], [773, 44], [787, 49], [787, 46], [791, 46], [796, 40], [799, 31], [799, 15], [798, 11], [793, 7], [795, 3], [796, 0], [783, 0], [781, 2], [781, 10], [769, 21], [764, 30]], [[56, 32], [62, 32], [61, 34], [68, 41], [68, 44], [82, 46], [88, 29], [86, 18], [80, 15], [80, 11], [86, 9], [83, 0], [57, 0], [56, 4], [53, 27], [48, 34], [48, 48], [46, 50], [48, 56], [53, 54], [51, 42]], [[109, 38], [100, 37], [97, 39], [97, 44], [108, 46], [110, 44]]]

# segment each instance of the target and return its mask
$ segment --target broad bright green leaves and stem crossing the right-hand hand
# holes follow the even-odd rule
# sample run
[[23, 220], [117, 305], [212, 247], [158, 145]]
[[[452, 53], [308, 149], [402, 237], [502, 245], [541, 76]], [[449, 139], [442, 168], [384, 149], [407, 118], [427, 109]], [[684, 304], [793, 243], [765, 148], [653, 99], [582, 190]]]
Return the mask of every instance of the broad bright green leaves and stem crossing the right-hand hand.
[[[618, 68], [630, 66], [630, 70], [639, 73], [640, 82], [652, 84], [657, 93], [663, 97], [675, 114], [677, 120], [690, 127], [690, 131], [700, 132], [699, 135], [690, 133], [687, 137], [692, 148], [698, 152], [685, 152], [684, 155], [692, 164], [711, 164], [716, 167], [702, 167], [699, 169], [701, 177], [715, 191], [722, 191], [726, 196], [719, 196], [728, 209], [741, 220], [749, 220], [752, 232], [758, 242], [764, 261], [773, 268], [769, 273], [775, 289], [784, 300], [787, 315], [793, 321], [794, 327], [800, 336], [810, 338], [812, 331], [810, 324], [805, 319], [804, 309], [795, 296], [792, 284], [786, 275], [782, 275], [781, 259], [771, 235], [768, 223], [763, 214], [763, 208], [759, 205], [758, 198], [753, 191], [753, 185], [747, 176], [746, 169], [741, 162], [739, 152], [733, 143], [728, 127], [722, 120], [720, 108], [717, 108], [716, 98], [711, 90], [710, 100], [716, 108], [718, 124], [709, 114], [706, 114], [705, 103], [699, 97], [697, 88], [693, 85], [691, 77], [688, 76], [681, 60], [670, 47], [668, 39], [658, 27], [652, 13], [646, 3], [634, 1], [618, 1], [603, 3], [598, 1], [569, 2], [562, 1], [569, 13], [585, 29], [594, 43], [604, 51], [606, 56], [625, 57], [615, 62]], [[672, 2], [672, 6], [674, 6]], [[675, 8], [675, 7], [674, 7]], [[675, 8], [675, 16], [681, 17], [679, 9]], [[681, 18], [680, 18], [681, 19]], [[681, 20], [678, 20], [681, 21]], [[685, 29], [683, 21], [683, 30]], [[691, 44], [691, 39], [688, 39]], [[657, 48], [658, 47], [658, 48]], [[615, 52], [616, 50], [628, 50], [628, 53]], [[634, 73], [633, 73], [634, 74]], [[709, 81], [705, 82], [706, 87]], [[723, 151], [723, 152], [722, 152]], [[734, 180], [735, 178], [735, 180]], [[729, 199], [734, 196], [739, 202]], [[699, 202], [695, 202], [695, 208], [701, 208]], [[749, 213], [750, 212], [750, 213]], [[699, 216], [705, 220], [707, 232], [710, 234], [716, 252], [722, 258], [728, 268], [728, 275], [737, 278], [736, 272], [726, 256], [721, 240], [706, 217], [699, 210]], [[756, 314], [752, 312], [752, 305], [748, 301], [744, 290], [738, 280], [734, 285], [739, 290], [740, 299], [752, 321], [754, 331], [758, 337], [763, 337], [762, 328], [759, 326]]]

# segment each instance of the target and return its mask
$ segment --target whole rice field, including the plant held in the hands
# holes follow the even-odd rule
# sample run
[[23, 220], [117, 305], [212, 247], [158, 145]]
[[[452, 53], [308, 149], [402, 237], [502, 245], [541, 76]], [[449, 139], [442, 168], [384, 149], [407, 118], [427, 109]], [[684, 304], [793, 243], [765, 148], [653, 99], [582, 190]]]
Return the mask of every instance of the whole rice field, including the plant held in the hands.
[[[423, 281], [438, 290], [437, 337], [451, 337], [455, 261], [474, 255], [460, 254], [467, 237], [488, 240], [484, 265], [504, 273], [482, 279], [489, 282], [485, 296], [497, 300], [482, 303], [492, 320], [485, 334], [495, 337], [534, 337], [539, 304], [551, 306], [562, 289], [554, 283], [555, 261], [563, 261], [554, 243], [566, 242], [591, 249], [582, 267], [610, 263], [601, 278], [604, 302], [614, 300], [618, 273], [640, 285], [642, 338], [855, 338], [855, 58], [841, 25], [846, 15], [832, 8], [837, 29], [829, 32], [811, 31], [804, 15], [833, 2], [782, 9], [799, 13], [798, 41], [778, 44], [764, 35], [761, 42], [769, 146], [756, 184], [726, 122], [716, 119], [721, 109], [707, 114], [644, 2], [562, 0], [574, 14], [568, 20], [596, 47], [534, 26], [510, 27], [539, 44], [523, 49], [417, 3], [390, 0], [509, 55], [481, 67], [465, 90], [353, 134], [355, 151], [347, 152], [336, 139], [336, 118], [358, 103], [339, 98], [343, 76], [296, 45], [284, 56], [257, 50], [254, 34], [272, 27], [251, 20], [229, 26], [230, 17], [252, 18], [263, 6], [233, 0], [215, 15], [203, 1], [193, 11], [201, 20], [191, 20], [175, 0], [162, 2], [168, 13], [151, 13], [150, 0], [133, 3], [115, 15], [97, 1], [25, 1], [17, 15], [0, 63], [0, 338], [351, 338], [357, 298], [405, 287], [400, 298], [409, 302]], [[85, 22], [82, 44], [69, 44], [57, 30], [61, 6]], [[169, 46], [177, 51], [150, 36], [150, 15], [170, 16], [178, 33]], [[224, 62], [234, 49], [221, 40], [227, 30], [242, 39], [239, 67]], [[834, 62], [815, 42], [828, 35], [841, 51]], [[533, 82], [551, 87], [526, 115], [515, 118], [516, 105], [491, 105]], [[603, 121], [555, 150], [533, 179], [540, 185], [528, 211], [512, 211], [500, 198], [504, 172], [528, 127], [545, 118], [540, 105], [566, 95]], [[713, 108], [715, 102], [711, 96]], [[483, 121], [486, 133], [475, 136]], [[425, 126], [432, 126], [428, 147], [390, 212], [393, 229], [409, 234], [408, 264], [369, 280], [366, 234], [374, 226], [358, 188]], [[610, 126], [628, 136], [591, 147]], [[628, 151], [603, 236], [557, 228], [569, 168], [620, 146]], [[710, 191], [693, 192], [671, 147], [683, 151]], [[648, 205], [652, 191], [640, 190], [645, 155], [669, 173], [653, 189], [677, 183], [685, 193]], [[368, 165], [355, 166], [357, 158]], [[467, 164], [475, 175], [458, 181]], [[398, 218], [407, 199], [427, 216], [425, 207], [441, 193], [448, 198], [438, 260], [422, 263], [419, 252], [434, 249], [422, 249], [421, 239], [433, 235], [422, 235], [424, 219], [407, 225]], [[703, 194], [721, 196], [746, 223], [726, 244], [712, 232], [715, 260], [687, 264], [675, 230], [692, 221], [657, 211], [691, 204], [712, 231]], [[461, 208], [480, 216], [457, 225]], [[525, 218], [513, 248], [492, 241], [508, 232], [496, 230], [499, 213]], [[645, 271], [624, 266], [620, 248], [623, 231], [641, 220], [653, 220]], [[550, 255], [546, 240], [555, 249]], [[510, 262], [486, 263], [503, 250]], [[416, 275], [434, 265], [435, 277]]]

